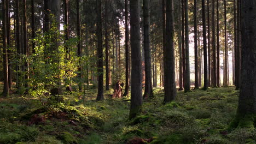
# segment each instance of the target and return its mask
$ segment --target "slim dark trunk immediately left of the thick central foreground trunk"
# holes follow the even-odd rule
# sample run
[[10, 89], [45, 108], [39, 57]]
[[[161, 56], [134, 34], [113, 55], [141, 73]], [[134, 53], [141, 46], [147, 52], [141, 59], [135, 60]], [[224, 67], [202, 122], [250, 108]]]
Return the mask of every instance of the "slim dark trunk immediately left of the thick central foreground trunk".
[[124, 96], [129, 94], [129, 17], [128, 17], [128, 0], [125, 0], [125, 92]]

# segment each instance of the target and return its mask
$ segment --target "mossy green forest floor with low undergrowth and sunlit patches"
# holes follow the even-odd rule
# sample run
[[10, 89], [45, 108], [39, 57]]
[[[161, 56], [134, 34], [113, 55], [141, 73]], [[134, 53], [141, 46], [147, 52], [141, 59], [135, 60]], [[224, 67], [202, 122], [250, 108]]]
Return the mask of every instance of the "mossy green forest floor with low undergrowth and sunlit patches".
[[[0, 84], [2, 88], [2, 84]], [[143, 101], [143, 113], [129, 120], [129, 98], [95, 101], [96, 90], [63, 94], [59, 106], [11, 94], [0, 100], [0, 143], [255, 143], [256, 131], [225, 131], [234, 118], [234, 87], [178, 92], [163, 104], [164, 92]], [[50, 102], [49, 102], [50, 103]]]

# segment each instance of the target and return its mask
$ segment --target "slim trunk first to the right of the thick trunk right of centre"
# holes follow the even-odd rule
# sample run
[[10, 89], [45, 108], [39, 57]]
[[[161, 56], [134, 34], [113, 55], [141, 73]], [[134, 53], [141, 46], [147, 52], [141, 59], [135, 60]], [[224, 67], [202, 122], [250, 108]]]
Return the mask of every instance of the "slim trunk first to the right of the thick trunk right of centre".
[[185, 76], [185, 71], [186, 71], [186, 62], [185, 62], [185, 29], [184, 29], [184, 1], [182, 1], [182, 73], [183, 73], [183, 87], [185, 88], [185, 82], [186, 82], [186, 76]]

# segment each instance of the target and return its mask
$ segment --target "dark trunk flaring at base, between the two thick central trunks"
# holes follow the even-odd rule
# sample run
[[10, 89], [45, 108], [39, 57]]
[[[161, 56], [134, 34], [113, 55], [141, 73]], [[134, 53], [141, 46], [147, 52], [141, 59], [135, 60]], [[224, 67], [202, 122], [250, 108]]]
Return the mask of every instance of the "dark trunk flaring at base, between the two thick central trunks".
[[143, 94], [143, 99], [147, 99], [148, 97], [153, 97], [149, 3], [150, 3], [149, 0], [143, 0], [144, 56], [145, 56], [145, 91]]

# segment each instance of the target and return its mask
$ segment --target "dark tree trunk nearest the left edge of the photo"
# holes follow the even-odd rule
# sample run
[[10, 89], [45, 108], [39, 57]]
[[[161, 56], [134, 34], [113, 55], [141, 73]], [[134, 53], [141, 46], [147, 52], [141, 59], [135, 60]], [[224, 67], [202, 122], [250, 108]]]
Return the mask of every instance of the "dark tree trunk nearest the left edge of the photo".
[[6, 3], [7, 0], [2, 1], [3, 9], [3, 77], [4, 77], [4, 87], [3, 96], [9, 97], [9, 82], [8, 82], [8, 52], [7, 52], [7, 17], [6, 17]]

